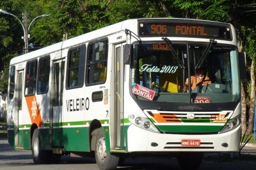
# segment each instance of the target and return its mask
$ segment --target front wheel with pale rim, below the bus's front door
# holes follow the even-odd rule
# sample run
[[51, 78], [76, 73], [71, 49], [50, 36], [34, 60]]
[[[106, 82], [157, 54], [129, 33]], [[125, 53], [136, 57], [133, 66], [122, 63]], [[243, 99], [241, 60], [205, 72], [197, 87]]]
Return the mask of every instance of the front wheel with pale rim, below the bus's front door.
[[102, 127], [97, 132], [95, 143], [95, 159], [100, 170], [116, 169], [119, 162], [118, 156], [113, 155], [112, 153], [108, 153], [106, 150], [106, 141]]

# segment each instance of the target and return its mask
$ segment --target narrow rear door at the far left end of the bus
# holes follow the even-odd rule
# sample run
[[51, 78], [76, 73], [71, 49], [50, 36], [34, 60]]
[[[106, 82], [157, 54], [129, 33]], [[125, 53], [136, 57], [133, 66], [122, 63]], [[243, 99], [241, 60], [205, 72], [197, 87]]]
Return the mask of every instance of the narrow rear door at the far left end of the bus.
[[15, 99], [14, 99], [14, 134], [15, 134], [15, 148], [23, 148], [22, 132], [19, 132], [19, 124], [22, 123], [22, 89], [23, 89], [23, 73], [24, 71], [17, 71], [17, 84], [15, 87]]

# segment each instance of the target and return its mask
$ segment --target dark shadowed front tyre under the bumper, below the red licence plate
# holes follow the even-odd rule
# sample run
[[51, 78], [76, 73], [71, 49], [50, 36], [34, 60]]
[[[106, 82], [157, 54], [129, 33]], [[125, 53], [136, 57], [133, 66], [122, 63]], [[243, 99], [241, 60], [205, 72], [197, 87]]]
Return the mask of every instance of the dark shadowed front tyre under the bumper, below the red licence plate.
[[177, 157], [182, 170], [196, 170], [200, 167], [204, 153], [202, 152], [182, 152]]

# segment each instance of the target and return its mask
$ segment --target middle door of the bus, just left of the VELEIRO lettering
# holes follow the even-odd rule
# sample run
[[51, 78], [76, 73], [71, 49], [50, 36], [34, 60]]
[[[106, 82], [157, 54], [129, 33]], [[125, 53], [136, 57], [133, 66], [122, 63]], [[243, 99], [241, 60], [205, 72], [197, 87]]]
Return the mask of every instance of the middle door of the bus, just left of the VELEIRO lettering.
[[55, 60], [52, 66], [50, 136], [52, 147], [58, 147], [61, 146], [63, 139], [61, 120], [65, 60]]

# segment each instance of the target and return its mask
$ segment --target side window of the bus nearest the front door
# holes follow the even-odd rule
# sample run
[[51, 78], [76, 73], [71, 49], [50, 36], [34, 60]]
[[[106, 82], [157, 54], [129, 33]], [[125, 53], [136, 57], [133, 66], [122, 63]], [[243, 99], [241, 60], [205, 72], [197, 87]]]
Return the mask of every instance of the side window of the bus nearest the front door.
[[88, 46], [86, 84], [104, 83], [107, 76], [108, 40]]

